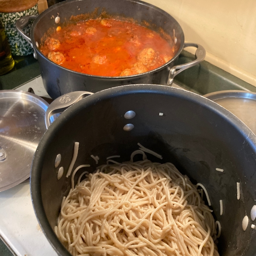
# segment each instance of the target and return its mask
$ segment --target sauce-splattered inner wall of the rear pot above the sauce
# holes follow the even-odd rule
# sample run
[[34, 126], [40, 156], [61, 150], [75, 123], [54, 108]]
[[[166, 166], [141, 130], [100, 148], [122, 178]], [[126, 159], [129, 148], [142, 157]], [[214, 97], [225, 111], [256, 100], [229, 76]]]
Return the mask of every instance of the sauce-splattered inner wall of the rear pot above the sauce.
[[[55, 23], [55, 17], [57, 16], [61, 20], [58, 24]], [[73, 16], [73, 21], [70, 21], [71, 16]], [[55, 30], [57, 26], [63, 26], [69, 22], [101, 16], [121, 20], [132, 18], [138, 24], [160, 32], [172, 45], [176, 37], [176, 55], [173, 59], [183, 49], [184, 34], [179, 23], [167, 12], [139, 0], [67, 0], [58, 3], [44, 11], [33, 23], [31, 30], [32, 43], [34, 46], [36, 46], [35, 42], [40, 44], [45, 34], [51, 31], [50, 28]], [[41, 54], [40, 51], [38, 53]]]

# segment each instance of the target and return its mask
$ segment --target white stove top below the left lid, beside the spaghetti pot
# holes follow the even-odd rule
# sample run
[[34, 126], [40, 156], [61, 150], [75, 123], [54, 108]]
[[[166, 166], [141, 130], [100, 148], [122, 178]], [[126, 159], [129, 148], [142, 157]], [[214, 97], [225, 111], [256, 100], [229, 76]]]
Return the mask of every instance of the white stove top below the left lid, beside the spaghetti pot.
[[57, 256], [32, 206], [29, 179], [0, 193], [0, 235], [17, 256]]

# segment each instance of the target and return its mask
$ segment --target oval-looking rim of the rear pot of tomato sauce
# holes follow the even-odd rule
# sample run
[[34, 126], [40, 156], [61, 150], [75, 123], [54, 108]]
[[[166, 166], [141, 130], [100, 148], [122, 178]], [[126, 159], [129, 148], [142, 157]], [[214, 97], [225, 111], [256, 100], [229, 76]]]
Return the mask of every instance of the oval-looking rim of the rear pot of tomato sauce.
[[[119, 0], [119, 1], [121, 1], [121, 0]], [[124, 1], [124, 2], [133, 2], [133, 3], [141, 4], [141, 5], [144, 5], [144, 6], [148, 6], [149, 8], [155, 9], [155, 10], [157, 10], [158, 12], [160, 12], [163, 15], [167, 15], [169, 17], [172, 17], [172, 15], [170, 15], [167, 12], [165, 12], [163, 9], [160, 9], [157, 6], [154, 6], [154, 5], [150, 4], [150, 3], [145, 3], [145, 2], [140, 1], [140, 0], [122, 0], [122, 1]], [[183, 29], [181, 28], [180, 24], [177, 22], [177, 20], [174, 17], [172, 17], [172, 19], [175, 20], [177, 26], [180, 29], [180, 47], [179, 47], [179, 49], [177, 50], [176, 54], [174, 55], [174, 57], [172, 59], [170, 59], [168, 62], [166, 62], [165, 64], [163, 64], [160, 67], [157, 67], [154, 70], [150, 70], [148, 72], [137, 74], [137, 75], [132, 75], [132, 76], [95, 76], [95, 75], [90, 75], [90, 74], [86, 74], [86, 73], [81, 73], [81, 72], [77, 72], [77, 71], [74, 71], [74, 70], [70, 70], [70, 69], [62, 67], [62, 66], [60, 66], [58, 64], [55, 64], [53, 61], [49, 60], [38, 49], [38, 47], [36, 45], [35, 38], [34, 38], [35, 27], [38, 24], [38, 22], [40, 21], [41, 17], [44, 17], [49, 12], [53, 12], [55, 9], [58, 9], [59, 6], [62, 6], [62, 5], [65, 5], [65, 4], [69, 4], [69, 3], [73, 3], [73, 2], [81, 2], [81, 0], [66, 0], [66, 1], [63, 1], [61, 3], [55, 4], [54, 6], [49, 7], [44, 12], [42, 12], [40, 15], [38, 15], [38, 17], [35, 19], [35, 21], [32, 24], [32, 27], [31, 27], [31, 41], [32, 41], [33, 48], [35, 49], [37, 55], [40, 55], [41, 58], [44, 58], [47, 61], [50, 61], [50, 63], [53, 64], [55, 67], [58, 67], [60, 69], [66, 70], [66, 71], [69, 71], [71, 73], [75, 73], [75, 74], [79, 74], [79, 75], [85, 75], [85, 76], [89, 76], [89, 77], [95, 78], [95, 79], [109, 79], [109, 80], [125, 80], [125, 79], [128, 79], [128, 78], [129, 79], [134, 79], [134, 78], [139, 78], [141, 76], [146, 76], [148, 74], [152, 74], [152, 73], [155, 73], [155, 72], [157, 72], [159, 70], [165, 69], [170, 63], [174, 62], [178, 58], [178, 56], [180, 55], [180, 52], [183, 50], [184, 42], [185, 42], [184, 32], [183, 32]]]

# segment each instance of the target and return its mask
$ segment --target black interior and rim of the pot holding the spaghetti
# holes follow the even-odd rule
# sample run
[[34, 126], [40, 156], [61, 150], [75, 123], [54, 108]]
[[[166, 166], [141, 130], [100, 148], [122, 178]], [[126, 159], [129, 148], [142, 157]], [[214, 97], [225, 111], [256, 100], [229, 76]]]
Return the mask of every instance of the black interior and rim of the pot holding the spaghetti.
[[[136, 116], [125, 119], [124, 114], [130, 110]], [[124, 131], [128, 123], [134, 129]], [[206, 186], [215, 219], [222, 227], [220, 255], [256, 254], [256, 232], [250, 228], [251, 221], [246, 231], [241, 226], [244, 215], [250, 216], [256, 199], [256, 137], [214, 102], [171, 87], [131, 85], [88, 96], [64, 111], [44, 134], [31, 176], [35, 212], [42, 230], [60, 255], [69, 253], [53, 228], [61, 200], [71, 187], [71, 176], [65, 175], [75, 142], [80, 145], [74, 168], [90, 164], [90, 172], [96, 169], [91, 154], [99, 156], [100, 165], [106, 163], [106, 157], [116, 154], [121, 155], [120, 161], [129, 160], [131, 152], [138, 149], [137, 143], [162, 154], [163, 160], [147, 156], [152, 161], [174, 163], [193, 183]], [[57, 180], [60, 166], [54, 167], [57, 154], [61, 154], [60, 166], [64, 167], [60, 180]], [[217, 172], [216, 168], [224, 172]], [[237, 182], [241, 183], [240, 200], [237, 200]], [[220, 215], [220, 200], [223, 200], [223, 215]]]

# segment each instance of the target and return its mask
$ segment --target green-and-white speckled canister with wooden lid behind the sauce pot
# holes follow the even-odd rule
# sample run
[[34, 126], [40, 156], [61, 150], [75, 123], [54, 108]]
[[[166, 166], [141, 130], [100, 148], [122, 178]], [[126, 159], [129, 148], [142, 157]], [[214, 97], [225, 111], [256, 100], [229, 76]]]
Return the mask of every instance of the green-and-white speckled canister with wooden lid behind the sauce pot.
[[[31, 45], [17, 32], [15, 22], [22, 16], [38, 15], [38, 0], [0, 0], [0, 19], [11, 47], [12, 55], [29, 55]], [[24, 29], [30, 33], [31, 24]]]

